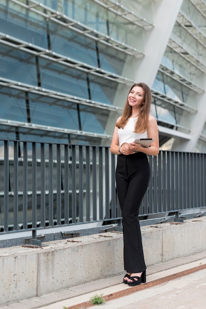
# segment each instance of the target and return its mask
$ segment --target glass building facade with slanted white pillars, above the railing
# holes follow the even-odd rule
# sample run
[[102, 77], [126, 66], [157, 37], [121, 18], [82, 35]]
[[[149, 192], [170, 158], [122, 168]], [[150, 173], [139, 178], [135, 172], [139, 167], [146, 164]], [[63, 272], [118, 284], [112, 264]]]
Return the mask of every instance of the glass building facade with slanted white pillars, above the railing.
[[139, 81], [161, 148], [206, 152], [205, 0], [0, 1], [0, 139], [109, 146]]

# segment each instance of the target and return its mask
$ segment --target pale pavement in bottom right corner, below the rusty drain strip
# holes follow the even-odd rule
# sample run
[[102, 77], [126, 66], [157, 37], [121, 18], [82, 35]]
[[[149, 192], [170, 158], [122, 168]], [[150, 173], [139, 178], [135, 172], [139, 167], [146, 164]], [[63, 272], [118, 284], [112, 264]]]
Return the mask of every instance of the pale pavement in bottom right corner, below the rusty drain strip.
[[[98, 309], [100, 306], [94, 306]], [[76, 307], [77, 309], [79, 307]], [[82, 307], [83, 308], [83, 307]], [[89, 307], [91, 308], [91, 307]], [[103, 305], [103, 309], [202, 309], [206, 308], [206, 269], [155, 287], [135, 292]]]

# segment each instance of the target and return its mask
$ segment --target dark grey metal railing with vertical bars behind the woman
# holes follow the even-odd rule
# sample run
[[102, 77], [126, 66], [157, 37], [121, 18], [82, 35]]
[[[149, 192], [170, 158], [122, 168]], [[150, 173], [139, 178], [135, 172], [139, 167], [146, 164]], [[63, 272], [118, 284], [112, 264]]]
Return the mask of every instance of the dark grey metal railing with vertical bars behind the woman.
[[[109, 147], [4, 140], [0, 149], [0, 233], [121, 221]], [[206, 154], [160, 151], [148, 160], [140, 219], [206, 207]]]

